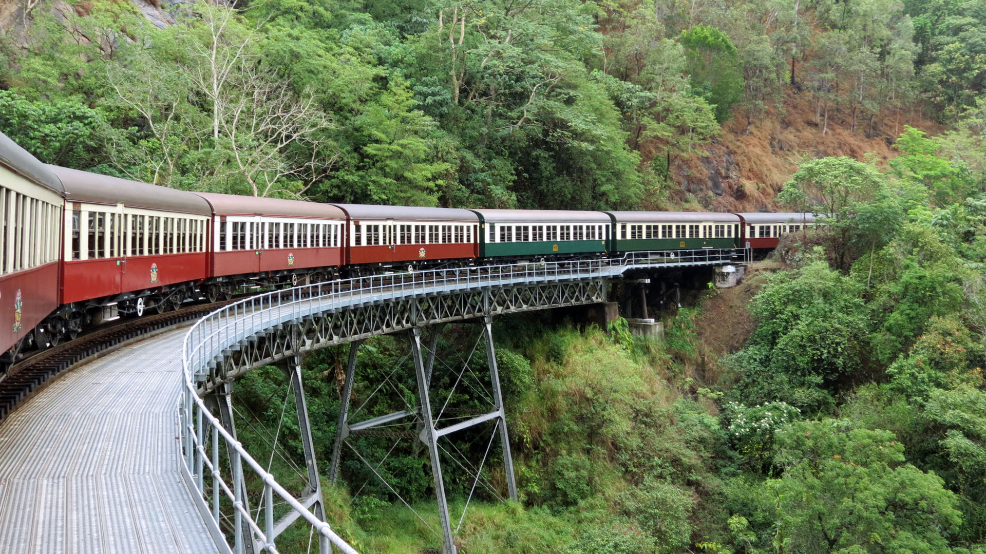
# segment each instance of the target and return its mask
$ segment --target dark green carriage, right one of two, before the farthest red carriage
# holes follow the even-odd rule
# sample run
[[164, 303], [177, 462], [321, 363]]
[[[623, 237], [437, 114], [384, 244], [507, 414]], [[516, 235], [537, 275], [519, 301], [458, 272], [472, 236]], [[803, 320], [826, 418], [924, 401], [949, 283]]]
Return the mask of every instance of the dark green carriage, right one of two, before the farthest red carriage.
[[740, 246], [740, 217], [718, 212], [606, 212], [613, 251], [699, 250]]

